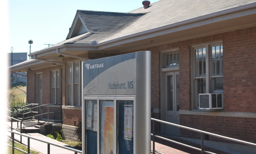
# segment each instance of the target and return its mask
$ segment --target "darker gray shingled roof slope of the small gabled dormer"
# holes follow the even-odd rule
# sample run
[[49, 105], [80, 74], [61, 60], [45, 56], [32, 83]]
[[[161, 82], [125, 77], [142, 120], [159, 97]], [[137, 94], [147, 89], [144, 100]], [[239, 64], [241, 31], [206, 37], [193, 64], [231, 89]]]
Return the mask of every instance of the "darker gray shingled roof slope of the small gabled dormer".
[[[91, 44], [92, 41], [102, 41], [122, 29], [129, 27], [145, 13], [112, 13], [91, 10], [77, 10], [89, 32], [57, 43]], [[53, 45], [54, 47], [55, 45]]]

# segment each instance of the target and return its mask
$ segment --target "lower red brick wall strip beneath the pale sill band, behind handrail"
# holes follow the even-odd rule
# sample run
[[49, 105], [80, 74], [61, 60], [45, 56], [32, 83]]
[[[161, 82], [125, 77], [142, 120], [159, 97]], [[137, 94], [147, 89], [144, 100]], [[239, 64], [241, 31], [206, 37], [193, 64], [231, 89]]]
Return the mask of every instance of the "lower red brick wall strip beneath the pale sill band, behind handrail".
[[[256, 118], [181, 115], [181, 125], [256, 143]], [[181, 137], [200, 139], [200, 134], [181, 129]], [[209, 140], [219, 140], [209, 137]]]

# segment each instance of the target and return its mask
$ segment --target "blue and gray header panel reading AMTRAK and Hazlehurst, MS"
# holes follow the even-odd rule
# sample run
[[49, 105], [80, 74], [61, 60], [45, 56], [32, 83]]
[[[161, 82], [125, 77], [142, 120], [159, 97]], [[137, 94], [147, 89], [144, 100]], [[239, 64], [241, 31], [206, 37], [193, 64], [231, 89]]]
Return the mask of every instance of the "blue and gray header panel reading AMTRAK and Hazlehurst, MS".
[[136, 94], [136, 64], [136, 52], [84, 61], [84, 94]]

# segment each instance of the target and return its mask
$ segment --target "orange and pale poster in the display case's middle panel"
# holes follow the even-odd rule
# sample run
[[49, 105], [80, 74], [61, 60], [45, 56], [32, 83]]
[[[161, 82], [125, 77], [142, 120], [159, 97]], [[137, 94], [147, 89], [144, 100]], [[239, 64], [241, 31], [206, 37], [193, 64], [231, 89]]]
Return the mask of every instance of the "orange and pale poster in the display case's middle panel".
[[101, 154], [113, 153], [114, 129], [113, 101], [103, 101], [101, 109]]

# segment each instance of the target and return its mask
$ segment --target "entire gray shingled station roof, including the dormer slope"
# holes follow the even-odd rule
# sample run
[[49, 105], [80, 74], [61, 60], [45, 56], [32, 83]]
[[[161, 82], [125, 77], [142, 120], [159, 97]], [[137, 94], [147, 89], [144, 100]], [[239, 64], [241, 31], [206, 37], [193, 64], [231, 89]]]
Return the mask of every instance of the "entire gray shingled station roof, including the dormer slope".
[[256, 3], [256, 0], [161, 0], [147, 9], [141, 7], [129, 13], [77, 10], [89, 32], [56, 45], [91, 44], [91, 41], [103, 43], [249, 3]]

